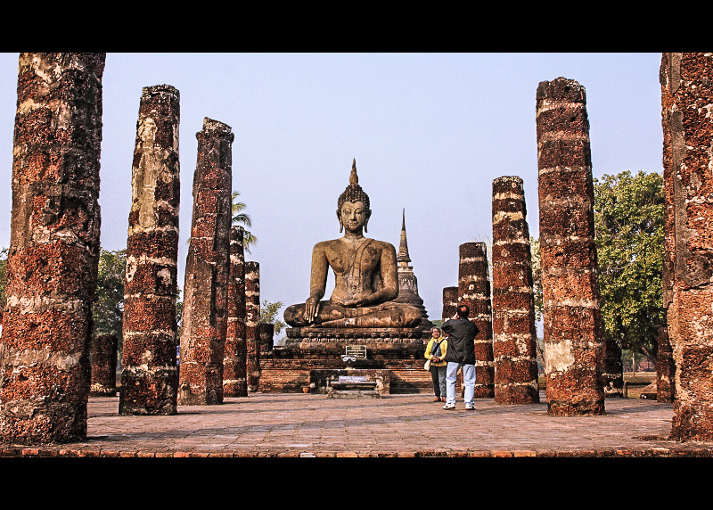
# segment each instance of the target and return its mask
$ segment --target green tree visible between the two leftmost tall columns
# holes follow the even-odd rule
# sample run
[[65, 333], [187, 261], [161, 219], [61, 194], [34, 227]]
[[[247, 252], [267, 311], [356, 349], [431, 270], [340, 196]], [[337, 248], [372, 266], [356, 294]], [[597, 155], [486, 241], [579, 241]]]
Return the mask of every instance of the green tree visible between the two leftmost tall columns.
[[119, 359], [123, 349], [121, 334], [124, 319], [124, 271], [127, 267], [127, 251], [99, 252], [99, 272], [96, 282], [96, 296], [92, 305], [94, 336], [97, 334], [116, 335], [119, 342]]

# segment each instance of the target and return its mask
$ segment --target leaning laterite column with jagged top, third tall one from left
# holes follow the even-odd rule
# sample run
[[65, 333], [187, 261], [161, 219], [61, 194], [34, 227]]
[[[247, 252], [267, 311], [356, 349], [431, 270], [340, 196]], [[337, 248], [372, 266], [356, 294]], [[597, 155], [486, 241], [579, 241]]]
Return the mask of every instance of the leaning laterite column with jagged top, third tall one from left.
[[203, 120], [193, 177], [191, 245], [185, 262], [179, 405], [223, 403], [233, 186], [231, 128]]

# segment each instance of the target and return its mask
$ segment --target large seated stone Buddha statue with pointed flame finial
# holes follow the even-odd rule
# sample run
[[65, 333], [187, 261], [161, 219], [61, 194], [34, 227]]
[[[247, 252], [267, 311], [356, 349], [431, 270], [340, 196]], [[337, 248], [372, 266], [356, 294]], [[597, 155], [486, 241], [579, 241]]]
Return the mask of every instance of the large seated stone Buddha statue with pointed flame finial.
[[[309, 297], [284, 311], [288, 325], [324, 328], [413, 328], [422, 316], [418, 308], [394, 301], [398, 296], [397, 255], [393, 244], [364, 236], [371, 218], [369, 196], [359, 185], [356, 160], [349, 185], [337, 201], [344, 236], [316, 243], [312, 251]], [[335, 285], [324, 297], [332, 267]]]

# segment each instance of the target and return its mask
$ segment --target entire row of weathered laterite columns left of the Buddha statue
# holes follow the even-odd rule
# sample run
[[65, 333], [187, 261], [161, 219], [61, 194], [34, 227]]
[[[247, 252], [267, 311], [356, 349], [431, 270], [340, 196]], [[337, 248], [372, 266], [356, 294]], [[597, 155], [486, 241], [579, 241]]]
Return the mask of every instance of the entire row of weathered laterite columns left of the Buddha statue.
[[[116, 391], [116, 337], [97, 335], [94, 371], [89, 359], [100, 251], [104, 62], [104, 53], [20, 53], [0, 339], [2, 441], [84, 440], [90, 391]], [[175, 414], [178, 403], [221, 402], [224, 385], [229, 395], [244, 395], [247, 388], [241, 366], [247, 364], [244, 346], [250, 333], [240, 325], [250, 323], [241, 317], [246, 313], [239, 303], [228, 309], [230, 300], [240, 301], [241, 291], [226, 292], [231, 278], [235, 287], [245, 278], [230, 260], [233, 253], [242, 257], [237, 255], [242, 233], [234, 230], [235, 249], [228, 247], [234, 136], [230, 127], [211, 119], [197, 134], [180, 371], [176, 366], [179, 103], [178, 91], [161, 85], [145, 87], [139, 106], [124, 282], [121, 414]], [[251, 317], [259, 317], [259, 290], [250, 299], [256, 301]], [[237, 327], [226, 351], [231, 322]], [[257, 334], [251, 343], [259, 345]], [[224, 365], [230, 366], [225, 381]]]

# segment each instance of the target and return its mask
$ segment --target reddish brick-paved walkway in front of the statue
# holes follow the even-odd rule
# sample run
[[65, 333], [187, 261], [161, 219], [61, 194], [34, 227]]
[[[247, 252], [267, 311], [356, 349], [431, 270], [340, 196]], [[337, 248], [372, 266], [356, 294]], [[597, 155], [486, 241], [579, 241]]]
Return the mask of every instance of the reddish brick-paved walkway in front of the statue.
[[430, 400], [253, 393], [136, 416], [118, 415], [118, 398], [93, 397], [86, 440], [0, 444], [0, 457], [713, 457], [713, 443], [667, 440], [673, 407], [653, 400], [607, 399], [606, 415], [582, 417], [549, 416], [544, 403], [478, 399], [465, 411], [459, 400], [445, 411]]

